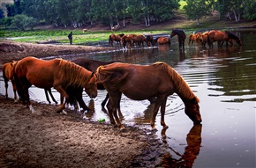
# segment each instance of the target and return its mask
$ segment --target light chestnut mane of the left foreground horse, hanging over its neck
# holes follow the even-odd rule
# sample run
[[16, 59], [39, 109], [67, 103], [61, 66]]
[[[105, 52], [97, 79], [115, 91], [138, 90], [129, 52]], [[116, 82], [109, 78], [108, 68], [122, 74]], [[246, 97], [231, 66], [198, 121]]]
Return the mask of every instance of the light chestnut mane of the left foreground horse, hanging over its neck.
[[91, 72], [89, 70], [84, 69], [73, 62], [68, 62], [63, 59], [59, 59], [57, 70], [62, 77], [68, 79], [67, 86], [78, 88], [84, 87], [85, 83], [87, 83], [91, 77]]

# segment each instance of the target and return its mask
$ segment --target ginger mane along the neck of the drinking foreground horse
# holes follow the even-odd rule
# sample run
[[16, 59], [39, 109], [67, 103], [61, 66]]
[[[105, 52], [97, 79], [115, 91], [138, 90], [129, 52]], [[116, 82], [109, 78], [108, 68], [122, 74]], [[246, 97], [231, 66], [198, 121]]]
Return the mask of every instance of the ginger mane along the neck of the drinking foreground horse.
[[166, 70], [169, 74], [169, 76], [172, 79], [172, 82], [174, 83], [174, 86], [176, 88], [178, 95], [183, 95], [184, 98], [187, 99], [193, 99], [195, 98], [197, 102], [200, 102], [200, 99], [198, 99], [194, 93], [192, 92], [191, 88], [188, 84], [184, 81], [183, 77], [181, 77], [175, 69], [172, 69], [167, 63], [165, 62], [155, 62], [153, 64], [154, 66], [161, 66], [162, 69]]

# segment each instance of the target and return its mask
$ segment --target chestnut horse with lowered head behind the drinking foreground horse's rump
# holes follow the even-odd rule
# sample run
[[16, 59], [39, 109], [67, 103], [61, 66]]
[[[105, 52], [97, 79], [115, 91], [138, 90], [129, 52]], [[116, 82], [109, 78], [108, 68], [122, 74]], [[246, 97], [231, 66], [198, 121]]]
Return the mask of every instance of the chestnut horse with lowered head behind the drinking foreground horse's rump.
[[[23, 105], [29, 106], [29, 110], [32, 113], [35, 111], [28, 94], [28, 88], [32, 84], [43, 89], [54, 87], [56, 91], [60, 92], [65, 101], [58, 106], [56, 112], [61, 113], [66, 103], [69, 102], [69, 95], [65, 91], [68, 87], [81, 90], [85, 88], [90, 98], [97, 96], [97, 85], [88, 83], [91, 77], [93, 77], [91, 71], [63, 59], [45, 61], [28, 56], [20, 60], [14, 67], [14, 79], [19, 96], [23, 100]], [[80, 103], [79, 106], [83, 106], [88, 111], [90, 110], [86, 105]]]

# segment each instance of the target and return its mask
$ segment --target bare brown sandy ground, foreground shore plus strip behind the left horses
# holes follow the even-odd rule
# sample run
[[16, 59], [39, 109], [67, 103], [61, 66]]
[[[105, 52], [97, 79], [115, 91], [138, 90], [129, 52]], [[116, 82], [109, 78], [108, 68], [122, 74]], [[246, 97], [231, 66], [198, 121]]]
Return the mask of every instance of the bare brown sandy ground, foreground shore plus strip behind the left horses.
[[[0, 41], [0, 67], [26, 55], [78, 54], [111, 49]], [[55, 113], [33, 102], [37, 113], [0, 95], [0, 167], [154, 167], [165, 155], [147, 129], [83, 120], [81, 113]], [[97, 113], [97, 112], [96, 112]]]

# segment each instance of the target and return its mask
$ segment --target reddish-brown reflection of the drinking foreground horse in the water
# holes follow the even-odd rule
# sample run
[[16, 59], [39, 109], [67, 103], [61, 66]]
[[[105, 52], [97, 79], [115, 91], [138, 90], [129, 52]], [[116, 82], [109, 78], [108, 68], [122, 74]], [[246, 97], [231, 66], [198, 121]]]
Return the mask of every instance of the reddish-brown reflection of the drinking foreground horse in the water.
[[[162, 129], [162, 137], [166, 137], [165, 135], [166, 129]], [[202, 125], [197, 124], [194, 125], [190, 132], [186, 135], [186, 142], [187, 146], [184, 148], [184, 154], [178, 153], [176, 150], [173, 150], [171, 147], [169, 147], [170, 150], [172, 150], [179, 159], [173, 158], [170, 153], [167, 153], [164, 157], [162, 157], [162, 161], [160, 164], [157, 164], [156, 167], [188, 167], [191, 168], [195, 159], [200, 154], [200, 147], [202, 142], [201, 137], [202, 132]]]

